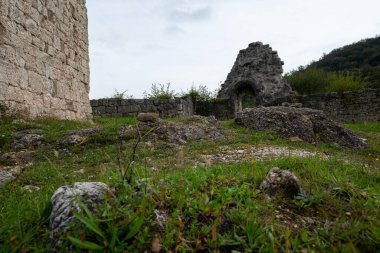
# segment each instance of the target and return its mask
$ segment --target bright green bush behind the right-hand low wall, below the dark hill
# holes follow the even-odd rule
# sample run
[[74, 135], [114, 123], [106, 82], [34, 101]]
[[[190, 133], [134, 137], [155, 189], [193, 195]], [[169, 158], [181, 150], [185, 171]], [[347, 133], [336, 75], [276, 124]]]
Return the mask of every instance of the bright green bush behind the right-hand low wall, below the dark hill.
[[360, 75], [327, 72], [315, 67], [300, 68], [286, 74], [284, 78], [300, 94], [353, 91], [366, 87]]

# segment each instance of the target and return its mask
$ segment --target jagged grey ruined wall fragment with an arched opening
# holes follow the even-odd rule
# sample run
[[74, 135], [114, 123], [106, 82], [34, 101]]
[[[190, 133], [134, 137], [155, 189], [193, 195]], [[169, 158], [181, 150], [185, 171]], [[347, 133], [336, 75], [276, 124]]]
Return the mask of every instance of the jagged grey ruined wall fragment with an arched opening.
[[247, 96], [251, 97], [251, 104], [263, 106], [289, 100], [292, 89], [282, 78], [283, 64], [269, 45], [249, 44], [239, 52], [218, 97], [231, 100], [235, 113], [243, 109]]

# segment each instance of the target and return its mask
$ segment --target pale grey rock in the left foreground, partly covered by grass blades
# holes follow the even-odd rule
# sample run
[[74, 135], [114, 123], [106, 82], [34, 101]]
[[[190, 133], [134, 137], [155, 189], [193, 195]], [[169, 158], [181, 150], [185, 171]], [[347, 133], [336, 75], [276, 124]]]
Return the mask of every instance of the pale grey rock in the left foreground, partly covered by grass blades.
[[81, 211], [81, 201], [90, 210], [94, 210], [104, 203], [106, 196], [113, 196], [112, 191], [100, 182], [74, 183], [56, 190], [51, 198], [53, 210], [50, 215], [50, 239], [53, 245], [62, 243], [61, 236], [76, 220], [73, 211]]

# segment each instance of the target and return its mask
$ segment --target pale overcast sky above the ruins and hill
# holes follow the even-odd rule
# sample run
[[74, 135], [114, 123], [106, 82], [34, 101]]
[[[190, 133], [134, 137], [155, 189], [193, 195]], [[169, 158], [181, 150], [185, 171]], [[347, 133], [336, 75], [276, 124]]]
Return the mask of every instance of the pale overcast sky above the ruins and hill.
[[87, 0], [90, 97], [142, 98], [152, 83], [214, 90], [240, 49], [262, 41], [288, 72], [380, 35], [379, 0]]

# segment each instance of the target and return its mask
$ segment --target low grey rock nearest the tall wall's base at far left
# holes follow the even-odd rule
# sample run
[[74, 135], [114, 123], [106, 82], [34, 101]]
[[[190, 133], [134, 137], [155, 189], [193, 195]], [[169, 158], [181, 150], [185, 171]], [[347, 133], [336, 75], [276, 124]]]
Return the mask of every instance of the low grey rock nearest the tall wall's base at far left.
[[44, 142], [44, 137], [41, 134], [42, 130], [40, 129], [18, 132], [13, 137], [12, 147], [16, 150], [37, 148]]

